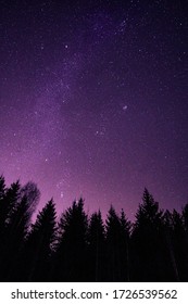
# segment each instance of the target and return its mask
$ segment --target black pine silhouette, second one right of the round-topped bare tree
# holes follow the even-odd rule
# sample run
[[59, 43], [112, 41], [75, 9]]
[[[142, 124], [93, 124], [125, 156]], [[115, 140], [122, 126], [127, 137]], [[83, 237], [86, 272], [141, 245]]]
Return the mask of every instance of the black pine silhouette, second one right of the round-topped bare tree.
[[84, 201], [73, 202], [60, 220], [60, 238], [55, 261], [55, 279], [83, 281], [87, 276], [88, 218], [84, 211]]

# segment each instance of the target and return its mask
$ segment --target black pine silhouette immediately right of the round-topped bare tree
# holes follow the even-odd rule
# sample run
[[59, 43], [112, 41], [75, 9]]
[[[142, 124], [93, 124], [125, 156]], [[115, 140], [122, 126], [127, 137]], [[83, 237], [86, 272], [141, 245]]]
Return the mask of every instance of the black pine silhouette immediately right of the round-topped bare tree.
[[24, 249], [25, 278], [28, 281], [50, 279], [50, 257], [57, 238], [55, 217], [55, 206], [50, 200], [32, 225]]

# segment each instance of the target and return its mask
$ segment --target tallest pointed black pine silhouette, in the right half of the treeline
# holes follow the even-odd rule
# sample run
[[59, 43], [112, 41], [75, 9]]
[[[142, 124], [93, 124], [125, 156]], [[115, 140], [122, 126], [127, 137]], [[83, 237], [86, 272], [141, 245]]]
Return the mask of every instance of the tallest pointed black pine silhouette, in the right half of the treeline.
[[164, 276], [162, 215], [147, 189], [136, 214], [131, 235], [131, 268], [135, 281], [161, 281]]

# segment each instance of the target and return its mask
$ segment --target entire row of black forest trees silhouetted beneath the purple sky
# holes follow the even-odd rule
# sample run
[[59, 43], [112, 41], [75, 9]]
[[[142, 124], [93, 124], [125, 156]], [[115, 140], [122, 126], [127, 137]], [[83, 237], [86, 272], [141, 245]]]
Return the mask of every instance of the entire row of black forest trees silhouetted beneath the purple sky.
[[0, 281], [188, 281], [188, 204], [162, 211], [147, 189], [135, 223], [110, 207], [88, 216], [84, 201], [57, 219], [33, 182], [0, 177]]

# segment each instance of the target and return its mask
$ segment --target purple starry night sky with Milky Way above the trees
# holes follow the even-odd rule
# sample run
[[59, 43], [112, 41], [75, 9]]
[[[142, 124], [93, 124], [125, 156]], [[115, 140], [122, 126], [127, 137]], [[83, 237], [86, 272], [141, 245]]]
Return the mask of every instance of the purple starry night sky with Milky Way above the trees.
[[[0, 1], [0, 174], [40, 208], [188, 202], [187, 1]], [[188, 66], [188, 65], [187, 65]]]

